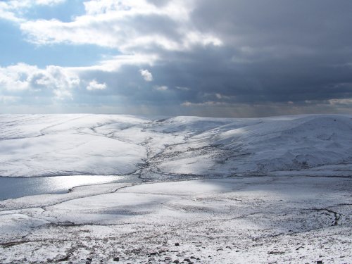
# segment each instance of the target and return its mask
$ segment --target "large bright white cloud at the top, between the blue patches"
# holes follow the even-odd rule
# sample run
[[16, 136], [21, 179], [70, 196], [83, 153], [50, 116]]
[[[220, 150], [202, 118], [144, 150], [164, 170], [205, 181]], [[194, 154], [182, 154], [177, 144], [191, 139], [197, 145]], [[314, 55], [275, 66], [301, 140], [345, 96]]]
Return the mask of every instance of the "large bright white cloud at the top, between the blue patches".
[[129, 54], [156, 47], [181, 51], [197, 45], [222, 45], [215, 35], [192, 26], [189, 13], [194, 1], [155, 6], [146, 0], [92, 0], [84, 6], [86, 13], [70, 22], [27, 20], [20, 28], [35, 44], [94, 44]]

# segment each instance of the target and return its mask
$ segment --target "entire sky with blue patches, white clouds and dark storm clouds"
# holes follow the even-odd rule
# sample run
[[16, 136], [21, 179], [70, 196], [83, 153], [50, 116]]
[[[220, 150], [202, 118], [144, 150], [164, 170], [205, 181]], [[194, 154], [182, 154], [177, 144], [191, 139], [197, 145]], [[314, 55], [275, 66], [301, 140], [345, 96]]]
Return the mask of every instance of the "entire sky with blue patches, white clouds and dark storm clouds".
[[0, 113], [352, 113], [351, 0], [0, 0]]

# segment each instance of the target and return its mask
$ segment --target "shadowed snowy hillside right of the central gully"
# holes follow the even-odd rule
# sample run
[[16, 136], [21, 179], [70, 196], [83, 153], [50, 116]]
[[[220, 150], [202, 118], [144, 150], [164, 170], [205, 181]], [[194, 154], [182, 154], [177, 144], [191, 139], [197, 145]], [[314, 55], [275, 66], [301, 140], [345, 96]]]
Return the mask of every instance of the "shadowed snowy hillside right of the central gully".
[[163, 154], [159, 167], [172, 173], [312, 173], [322, 165], [334, 165], [332, 170], [339, 171], [351, 163], [352, 120], [341, 115], [234, 120], [197, 134]]

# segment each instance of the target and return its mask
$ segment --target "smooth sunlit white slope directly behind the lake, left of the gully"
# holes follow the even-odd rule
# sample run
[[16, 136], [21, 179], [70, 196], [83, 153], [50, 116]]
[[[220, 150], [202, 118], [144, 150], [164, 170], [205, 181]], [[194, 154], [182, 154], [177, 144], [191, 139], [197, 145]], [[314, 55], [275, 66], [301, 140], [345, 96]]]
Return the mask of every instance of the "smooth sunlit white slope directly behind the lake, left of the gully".
[[[145, 149], [96, 132], [144, 120], [118, 115], [1, 115], [0, 175], [109, 175], [137, 170]], [[106, 132], [108, 133], [108, 132]]]

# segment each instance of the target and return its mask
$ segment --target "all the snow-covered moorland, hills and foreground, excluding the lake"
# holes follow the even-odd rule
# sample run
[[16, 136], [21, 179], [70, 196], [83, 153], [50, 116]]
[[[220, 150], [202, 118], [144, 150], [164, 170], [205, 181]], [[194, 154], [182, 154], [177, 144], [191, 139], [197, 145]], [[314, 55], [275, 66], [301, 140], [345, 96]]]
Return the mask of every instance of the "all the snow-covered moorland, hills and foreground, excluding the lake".
[[[352, 116], [0, 115], [0, 263], [351, 263]], [[129, 178], [131, 179], [131, 178]]]

